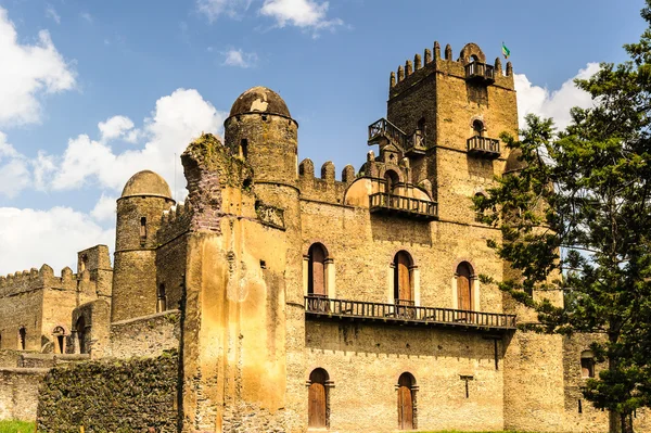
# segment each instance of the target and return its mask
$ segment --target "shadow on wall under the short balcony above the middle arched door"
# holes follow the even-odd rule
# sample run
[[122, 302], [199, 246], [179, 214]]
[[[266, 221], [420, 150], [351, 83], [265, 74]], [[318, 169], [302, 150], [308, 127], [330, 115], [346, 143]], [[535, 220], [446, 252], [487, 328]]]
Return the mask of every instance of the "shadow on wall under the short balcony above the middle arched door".
[[432, 246], [430, 222], [383, 215], [371, 215], [373, 241]]

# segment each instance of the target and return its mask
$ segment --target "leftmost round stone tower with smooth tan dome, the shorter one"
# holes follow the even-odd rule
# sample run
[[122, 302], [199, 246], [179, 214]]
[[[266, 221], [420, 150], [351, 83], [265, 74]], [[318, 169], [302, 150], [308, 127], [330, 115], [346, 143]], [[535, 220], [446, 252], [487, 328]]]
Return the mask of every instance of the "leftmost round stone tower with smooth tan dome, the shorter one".
[[153, 171], [127, 181], [117, 200], [111, 321], [156, 313], [156, 231], [174, 204], [169, 186]]

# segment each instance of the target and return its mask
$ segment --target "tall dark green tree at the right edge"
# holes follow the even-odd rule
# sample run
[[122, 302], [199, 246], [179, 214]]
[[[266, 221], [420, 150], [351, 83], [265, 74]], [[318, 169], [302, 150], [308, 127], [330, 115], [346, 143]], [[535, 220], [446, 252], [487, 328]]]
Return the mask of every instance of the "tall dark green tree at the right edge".
[[[651, 0], [641, 15], [651, 25]], [[584, 394], [631, 431], [651, 403], [651, 27], [625, 49], [630, 61], [576, 80], [593, 106], [572, 109], [566, 130], [529, 115], [519, 139], [502, 137], [526, 166], [475, 207], [501, 229], [489, 245], [520, 276], [498, 285], [538, 313], [529, 328], [603, 336], [592, 352], [608, 366]]]

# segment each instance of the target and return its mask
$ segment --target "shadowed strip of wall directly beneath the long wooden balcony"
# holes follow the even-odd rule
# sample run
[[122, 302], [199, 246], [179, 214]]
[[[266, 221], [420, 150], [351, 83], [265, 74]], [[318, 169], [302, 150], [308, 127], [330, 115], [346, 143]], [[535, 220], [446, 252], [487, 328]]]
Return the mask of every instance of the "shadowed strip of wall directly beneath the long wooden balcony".
[[[501, 362], [510, 338], [498, 338], [498, 360]], [[307, 321], [305, 346], [322, 352], [349, 352], [357, 355], [403, 355], [407, 357], [443, 357], [495, 360], [495, 342], [481, 333]]]

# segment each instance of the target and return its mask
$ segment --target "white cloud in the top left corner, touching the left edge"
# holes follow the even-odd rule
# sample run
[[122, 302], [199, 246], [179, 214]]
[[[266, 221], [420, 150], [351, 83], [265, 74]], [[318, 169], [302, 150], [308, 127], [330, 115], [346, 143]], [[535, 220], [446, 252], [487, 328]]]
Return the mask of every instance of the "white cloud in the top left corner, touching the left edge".
[[0, 8], [0, 125], [39, 122], [40, 97], [73, 89], [75, 72], [47, 30], [35, 44], [21, 44], [7, 10]]

